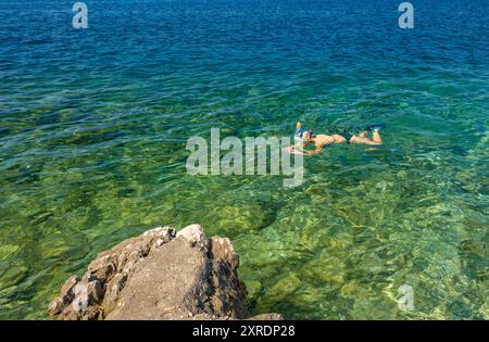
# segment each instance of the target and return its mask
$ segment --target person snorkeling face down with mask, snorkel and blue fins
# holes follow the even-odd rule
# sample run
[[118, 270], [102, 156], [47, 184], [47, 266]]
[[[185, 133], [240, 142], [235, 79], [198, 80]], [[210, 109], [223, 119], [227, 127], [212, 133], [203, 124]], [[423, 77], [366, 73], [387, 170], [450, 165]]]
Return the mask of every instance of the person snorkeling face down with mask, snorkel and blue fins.
[[[329, 145], [331, 143], [362, 143], [369, 145], [379, 145], [383, 144], [383, 139], [380, 138], [379, 130], [384, 128], [384, 124], [379, 125], [369, 125], [366, 127], [364, 131], [359, 135], [349, 135], [347, 132], [342, 135], [314, 135], [313, 131], [302, 130], [301, 123], [297, 123], [294, 141], [296, 144], [291, 145], [287, 149], [290, 153], [301, 153], [306, 155], [313, 155], [323, 152], [323, 148], [325, 145]], [[372, 130], [372, 138], [368, 138], [368, 131]], [[314, 151], [305, 151], [304, 148], [309, 143], [314, 143]]]

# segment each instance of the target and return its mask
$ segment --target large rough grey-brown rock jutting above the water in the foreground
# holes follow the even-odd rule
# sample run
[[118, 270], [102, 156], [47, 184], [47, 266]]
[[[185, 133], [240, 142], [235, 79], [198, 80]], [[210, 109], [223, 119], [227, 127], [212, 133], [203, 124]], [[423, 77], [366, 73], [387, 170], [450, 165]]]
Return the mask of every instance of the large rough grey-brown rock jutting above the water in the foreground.
[[198, 225], [155, 228], [100, 253], [48, 312], [54, 319], [242, 319], [238, 265], [230, 241], [208, 239]]

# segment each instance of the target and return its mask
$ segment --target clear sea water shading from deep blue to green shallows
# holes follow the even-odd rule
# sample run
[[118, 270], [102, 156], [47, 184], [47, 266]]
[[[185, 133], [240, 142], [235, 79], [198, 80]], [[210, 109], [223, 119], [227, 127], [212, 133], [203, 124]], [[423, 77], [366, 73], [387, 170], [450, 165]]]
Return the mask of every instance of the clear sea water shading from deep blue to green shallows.
[[[0, 318], [160, 225], [233, 239], [253, 313], [488, 319], [489, 5], [397, 1], [0, 3]], [[190, 136], [385, 122], [302, 187], [189, 176]], [[401, 312], [398, 288], [414, 289]]]

